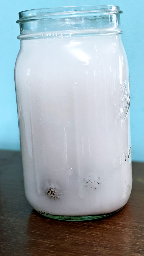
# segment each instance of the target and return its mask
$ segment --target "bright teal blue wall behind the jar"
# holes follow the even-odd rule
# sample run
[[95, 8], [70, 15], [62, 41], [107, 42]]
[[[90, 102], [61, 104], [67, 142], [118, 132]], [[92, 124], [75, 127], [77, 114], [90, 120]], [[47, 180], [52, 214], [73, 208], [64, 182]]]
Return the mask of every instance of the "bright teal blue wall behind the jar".
[[35, 8], [75, 5], [118, 5], [123, 10], [122, 40], [127, 52], [131, 78], [131, 140], [133, 161], [144, 161], [144, 19], [143, 0], [9, 0], [1, 2], [0, 149], [20, 150], [14, 85], [14, 66], [19, 51], [18, 13]]

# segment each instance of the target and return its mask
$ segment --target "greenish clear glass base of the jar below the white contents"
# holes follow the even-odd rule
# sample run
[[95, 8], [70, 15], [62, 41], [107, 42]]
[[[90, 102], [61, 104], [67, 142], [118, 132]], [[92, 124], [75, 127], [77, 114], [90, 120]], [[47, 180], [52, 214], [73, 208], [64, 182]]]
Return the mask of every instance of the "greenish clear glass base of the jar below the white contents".
[[116, 214], [119, 212], [121, 209], [123, 209], [125, 206], [122, 208], [118, 209], [117, 211], [108, 213], [108, 214], [101, 214], [101, 215], [92, 215], [92, 216], [60, 216], [60, 215], [50, 215], [45, 212], [37, 211], [41, 215], [50, 218], [50, 219], [55, 219], [55, 220], [67, 220], [67, 221], [84, 221], [84, 220], [95, 220], [95, 219], [101, 219], [101, 218], [106, 218], [111, 215]]

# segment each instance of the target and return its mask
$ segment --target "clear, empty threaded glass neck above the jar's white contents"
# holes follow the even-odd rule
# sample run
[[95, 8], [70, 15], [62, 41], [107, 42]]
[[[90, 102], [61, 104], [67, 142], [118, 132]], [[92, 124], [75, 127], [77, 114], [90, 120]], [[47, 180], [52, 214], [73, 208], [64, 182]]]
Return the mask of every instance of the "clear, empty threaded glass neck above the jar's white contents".
[[121, 34], [118, 6], [35, 9], [19, 13], [18, 39]]

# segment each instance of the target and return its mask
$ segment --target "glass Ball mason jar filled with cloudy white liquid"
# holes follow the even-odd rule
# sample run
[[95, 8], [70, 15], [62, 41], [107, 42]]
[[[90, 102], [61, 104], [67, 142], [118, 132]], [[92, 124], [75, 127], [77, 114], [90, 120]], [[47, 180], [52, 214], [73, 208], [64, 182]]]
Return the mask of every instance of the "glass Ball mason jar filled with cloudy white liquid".
[[121, 13], [118, 6], [19, 13], [15, 84], [25, 194], [44, 216], [102, 218], [130, 197]]

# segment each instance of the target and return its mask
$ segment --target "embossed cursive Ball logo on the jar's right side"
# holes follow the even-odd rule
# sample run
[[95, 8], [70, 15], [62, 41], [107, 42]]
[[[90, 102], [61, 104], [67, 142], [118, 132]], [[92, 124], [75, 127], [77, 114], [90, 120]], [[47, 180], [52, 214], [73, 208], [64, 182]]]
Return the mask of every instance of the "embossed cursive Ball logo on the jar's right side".
[[122, 85], [116, 92], [115, 105], [118, 106], [118, 119], [121, 119], [122, 123], [124, 123], [130, 107], [130, 78], [128, 89], [126, 88], [125, 81], [124, 85]]

